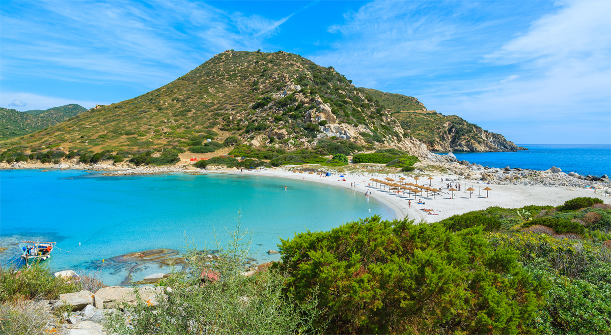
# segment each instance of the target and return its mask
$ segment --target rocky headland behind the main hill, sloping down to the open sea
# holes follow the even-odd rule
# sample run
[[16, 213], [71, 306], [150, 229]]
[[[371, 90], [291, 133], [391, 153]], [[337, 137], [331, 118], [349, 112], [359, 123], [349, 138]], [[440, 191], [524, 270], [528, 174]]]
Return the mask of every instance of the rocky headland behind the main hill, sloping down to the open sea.
[[425, 143], [431, 151], [517, 151], [526, 150], [494, 132], [485, 131], [456, 115], [442, 115], [412, 96], [364, 88], [379, 104], [389, 109], [405, 135]]

